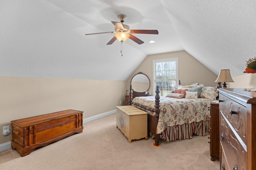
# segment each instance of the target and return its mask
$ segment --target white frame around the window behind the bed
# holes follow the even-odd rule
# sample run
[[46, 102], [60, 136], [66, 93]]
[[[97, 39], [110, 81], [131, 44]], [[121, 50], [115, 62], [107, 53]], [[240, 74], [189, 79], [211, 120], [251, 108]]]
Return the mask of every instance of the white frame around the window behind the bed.
[[[156, 59], [156, 60], [153, 60], [153, 64], [152, 64], [152, 66], [153, 66], [153, 78], [152, 78], [152, 84], [153, 84], [153, 92], [152, 92], [152, 94], [154, 94], [154, 96], [156, 95], [156, 80], [155, 80], [155, 63], [163, 63], [163, 62], [176, 62], [176, 88], [178, 87], [178, 80], [179, 80], [179, 78], [178, 78], [178, 57], [174, 57], [174, 58], [167, 58], [167, 59]], [[160, 87], [159, 87], [159, 90], [160, 90]], [[162, 94], [161, 94], [161, 90], [160, 90], [160, 93], [159, 93], [159, 95], [161, 96]]]

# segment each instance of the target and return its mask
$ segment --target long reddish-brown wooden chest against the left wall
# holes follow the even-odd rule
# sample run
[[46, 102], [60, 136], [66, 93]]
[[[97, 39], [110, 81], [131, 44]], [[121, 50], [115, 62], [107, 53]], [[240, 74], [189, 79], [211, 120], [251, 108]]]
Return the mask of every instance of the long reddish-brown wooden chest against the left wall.
[[11, 121], [12, 149], [21, 156], [30, 154], [37, 147], [43, 147], [64, 137], [81, 133], [83, 111], [65, 110]]

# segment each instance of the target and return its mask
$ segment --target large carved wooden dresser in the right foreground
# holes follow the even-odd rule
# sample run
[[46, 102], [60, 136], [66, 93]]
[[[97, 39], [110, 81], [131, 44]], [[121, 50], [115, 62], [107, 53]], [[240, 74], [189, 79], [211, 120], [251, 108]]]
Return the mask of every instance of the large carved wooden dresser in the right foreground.
[[256, 92], [219, 90], [220, 169], [256, 169]]

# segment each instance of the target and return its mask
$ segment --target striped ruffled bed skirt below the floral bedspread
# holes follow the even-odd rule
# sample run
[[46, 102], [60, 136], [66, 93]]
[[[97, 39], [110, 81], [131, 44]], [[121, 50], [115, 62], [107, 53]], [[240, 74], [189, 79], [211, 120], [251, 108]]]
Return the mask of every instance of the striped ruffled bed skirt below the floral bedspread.
[[[191, 139], [193, 134], [199, 136], [208, 135], [208, 127], [210, 121], [192, 122], [190, 124], [176, 125], [173, 127], [166, 127], [164, 132], [160, 134], [160, 139], [166, 141], [176, 141], [176, 139]], [[150, 134], [154, 138], [154, 134]]]

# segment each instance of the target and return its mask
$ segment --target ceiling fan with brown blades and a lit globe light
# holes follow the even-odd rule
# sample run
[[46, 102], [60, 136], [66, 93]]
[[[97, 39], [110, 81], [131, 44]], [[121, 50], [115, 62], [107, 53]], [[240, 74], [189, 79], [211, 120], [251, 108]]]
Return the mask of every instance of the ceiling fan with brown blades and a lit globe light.
[[[128, 38], [131, 39], [132, 41], [138, 43], [138, 44], [142, 44], [144, 42], [142, 40], [138, 39], [137, 37], [135, 37], [132, 34], [134, 34], [134, 33], [158, 34], [158, 30], [153, 30], [153, 29], [150, 29], [150, 30], [147, 30], [147, 29], [130, 29], [130, 27], [128, 25], [123, 24], [124, 20], [126, 20], [126, 18], [127, 17], [125, 15], [119, 15], [118, 19], [120, 20], [120, 22], [111, 21], [115, 25], [115, 31], [102, 32], [102, 33], [115, 33], [115, 36], [107, 43], [107, 45], [110, 45], [110, 44], [114, 43], [114, 41], [116, 41], [116, 39], [118, 39], [118, 41], [123, 43]], [[85, 34], [85, 35], [94, 35], [94, 34], [102, 34], [102, 33], [90, 33], [90, 34]]]

